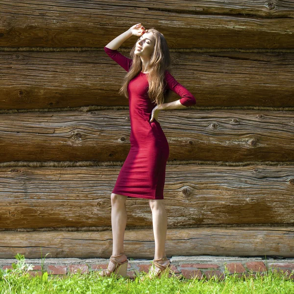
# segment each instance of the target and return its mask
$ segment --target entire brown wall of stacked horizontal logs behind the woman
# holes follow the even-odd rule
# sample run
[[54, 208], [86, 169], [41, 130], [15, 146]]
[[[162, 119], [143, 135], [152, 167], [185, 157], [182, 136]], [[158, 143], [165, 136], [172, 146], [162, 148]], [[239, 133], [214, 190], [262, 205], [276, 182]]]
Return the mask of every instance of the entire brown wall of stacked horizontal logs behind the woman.
[[[167, 255], [294, 257], [294, 3], [0, 1], [0, 258], [109, 257], [129, 148], [125, 71], [103, 47], [142, 23], [196, 97], [162, 111]], [[125, 56], [136, 42], [119, 49]], [[171, 101], [179, 99], [173, 93]], [[152, 258], [147, 199], [125, 253]]]

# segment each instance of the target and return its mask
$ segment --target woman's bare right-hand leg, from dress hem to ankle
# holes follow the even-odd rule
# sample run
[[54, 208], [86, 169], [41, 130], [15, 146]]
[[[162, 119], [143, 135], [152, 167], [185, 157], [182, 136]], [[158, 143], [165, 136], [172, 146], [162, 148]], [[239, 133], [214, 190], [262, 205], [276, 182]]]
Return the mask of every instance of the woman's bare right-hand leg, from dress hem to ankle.
[[[166, 257], [165, 242], [168, 229], [167, 212], [164, 206], [164, 199], [149, 199], [149, 205], [152, 211], [153, 233], [155, 240], [154, 259]], [[158, 261], [166, 265], [169, 261]]]

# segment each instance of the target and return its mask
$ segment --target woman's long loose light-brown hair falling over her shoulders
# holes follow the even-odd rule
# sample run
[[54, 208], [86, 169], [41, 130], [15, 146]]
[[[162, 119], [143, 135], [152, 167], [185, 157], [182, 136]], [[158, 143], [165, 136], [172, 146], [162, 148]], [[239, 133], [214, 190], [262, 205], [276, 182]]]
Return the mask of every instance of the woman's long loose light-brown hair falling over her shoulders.
[[[148, 95], [152, 102], [156, 102], [158, 106], [165, 103], [170, 96], [170, 89], [165, 90], [165, 71], [171, 72], [171, 56], [167, 41], [162, 33], [155, 28], [148, 28], [148, 32], [153, 33], [155, 36], [155, 45], [151, 54], [150, 63], [148, 65], [147, 78], [149, 83]], [[140, 36], [141, 37], [141, 36]], [[139, 37], [139, 39], [140, 39]], [[131, 79], [133, 79], [138, 73], [142, 71], [142, 60], [139, 55], [134, 54], [136, 50], [135, 45], [130, 51], [130, 56], [133, 59], [133, 63], [129, 69], [129, 72], [123, 78], [123, 86], [119, 91], [119, 94], [123, 94], [128, 98], [127, 85]]]

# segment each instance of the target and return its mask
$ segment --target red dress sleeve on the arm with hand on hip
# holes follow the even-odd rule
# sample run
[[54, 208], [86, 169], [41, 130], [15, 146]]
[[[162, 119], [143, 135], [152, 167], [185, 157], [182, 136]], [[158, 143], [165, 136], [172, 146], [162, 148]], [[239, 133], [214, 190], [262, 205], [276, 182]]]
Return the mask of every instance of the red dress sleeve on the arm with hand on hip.
[[180, 102], [182, 105], [185, 105], [188, 107], [188, 106], [192, 106], [196, 104], [196, 98], [184, 86], [182, 86], [172, 76], [171, 73], [166, 71], [165, 77], [167, 81], [167, 87], [181, 97]]

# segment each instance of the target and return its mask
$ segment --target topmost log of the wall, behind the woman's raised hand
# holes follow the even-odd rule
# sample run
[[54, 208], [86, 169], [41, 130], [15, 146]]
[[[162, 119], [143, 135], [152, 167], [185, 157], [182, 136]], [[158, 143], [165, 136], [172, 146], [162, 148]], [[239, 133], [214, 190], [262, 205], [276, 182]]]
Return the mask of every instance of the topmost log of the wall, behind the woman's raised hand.
[[144, 19], [171, 48], [294, 48], [294, 3], [286, 0], [4, 2], [1, 47], [103, 47]]

